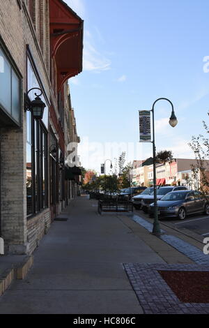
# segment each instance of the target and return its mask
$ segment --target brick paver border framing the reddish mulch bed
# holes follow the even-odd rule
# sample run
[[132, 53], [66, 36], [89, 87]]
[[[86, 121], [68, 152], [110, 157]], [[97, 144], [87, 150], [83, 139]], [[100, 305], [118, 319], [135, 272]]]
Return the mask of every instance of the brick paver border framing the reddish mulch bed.
[[158, 272], [209, 271], [209, 265], [124, 263], [123, 266], [144, 313], [209, 313], [209, 304], [181, 302]]

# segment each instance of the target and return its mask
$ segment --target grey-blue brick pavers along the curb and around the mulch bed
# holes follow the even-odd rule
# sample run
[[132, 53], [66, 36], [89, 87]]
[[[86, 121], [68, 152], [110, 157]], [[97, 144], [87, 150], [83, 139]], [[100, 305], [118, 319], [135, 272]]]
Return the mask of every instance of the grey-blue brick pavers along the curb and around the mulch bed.
[[[149, 232], [153, 231], [153, 224], [144, 218], [133, 215], [132, 220]], [[160, 239], [176, 248], [196, 264], [123, 264], [144, 313], [208, 314], [209, 304], [181, 302], [160, 276], [158, 270], [209, 271], [209, 256], [178, 237], [162, 234]]]

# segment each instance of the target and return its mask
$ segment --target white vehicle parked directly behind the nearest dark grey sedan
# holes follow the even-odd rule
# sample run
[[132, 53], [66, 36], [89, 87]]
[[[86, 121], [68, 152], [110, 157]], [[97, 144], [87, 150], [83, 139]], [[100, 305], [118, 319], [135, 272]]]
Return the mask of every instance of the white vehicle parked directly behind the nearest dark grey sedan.
[[[166, 186], [166, 187], [160, 187], [157, 189], [157, 200], [160, 200], [164, 195], [167, 193], [170, 193], [171, 191], [180, 191], [180, 190], [187, 190], [187, 187], [185, 186]], [[150, 204], [154, 202], [154, 191], [150, 195], [147, 195], [146, 197], [143, 197], [141, 200], [141, 209], [147, 213], [148, 209], [150, 207]]]

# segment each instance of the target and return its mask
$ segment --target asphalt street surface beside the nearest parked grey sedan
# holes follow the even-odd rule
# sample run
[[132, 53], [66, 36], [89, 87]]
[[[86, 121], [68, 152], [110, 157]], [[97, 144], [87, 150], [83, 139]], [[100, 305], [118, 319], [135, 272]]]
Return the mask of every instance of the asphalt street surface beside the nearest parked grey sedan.
[[[147, 214], [144, 214], [141, 210], [135, 210], [136, 214], [148, 218]], [[176, 227], [178, 229], [185, 228], [203, 237], [209, 237], [209, 216], [200, 214], [188, 215], [185, 220], [178, 220], [178, 218], [160, 218], [160, 221]]]

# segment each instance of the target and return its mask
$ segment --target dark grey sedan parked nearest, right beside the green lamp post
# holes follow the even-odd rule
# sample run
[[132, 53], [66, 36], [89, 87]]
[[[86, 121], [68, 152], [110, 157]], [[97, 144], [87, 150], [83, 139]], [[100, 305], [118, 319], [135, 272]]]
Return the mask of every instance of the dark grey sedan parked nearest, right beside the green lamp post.
[[[203, 212], [209, 215], [208, 200], [198, 191], [172, 191], [157, 201], [160, 216], [176, 216], [183, 220], [187, 214]], [[150, 204], [150, 216], [154, 214], [154, 203]]]

